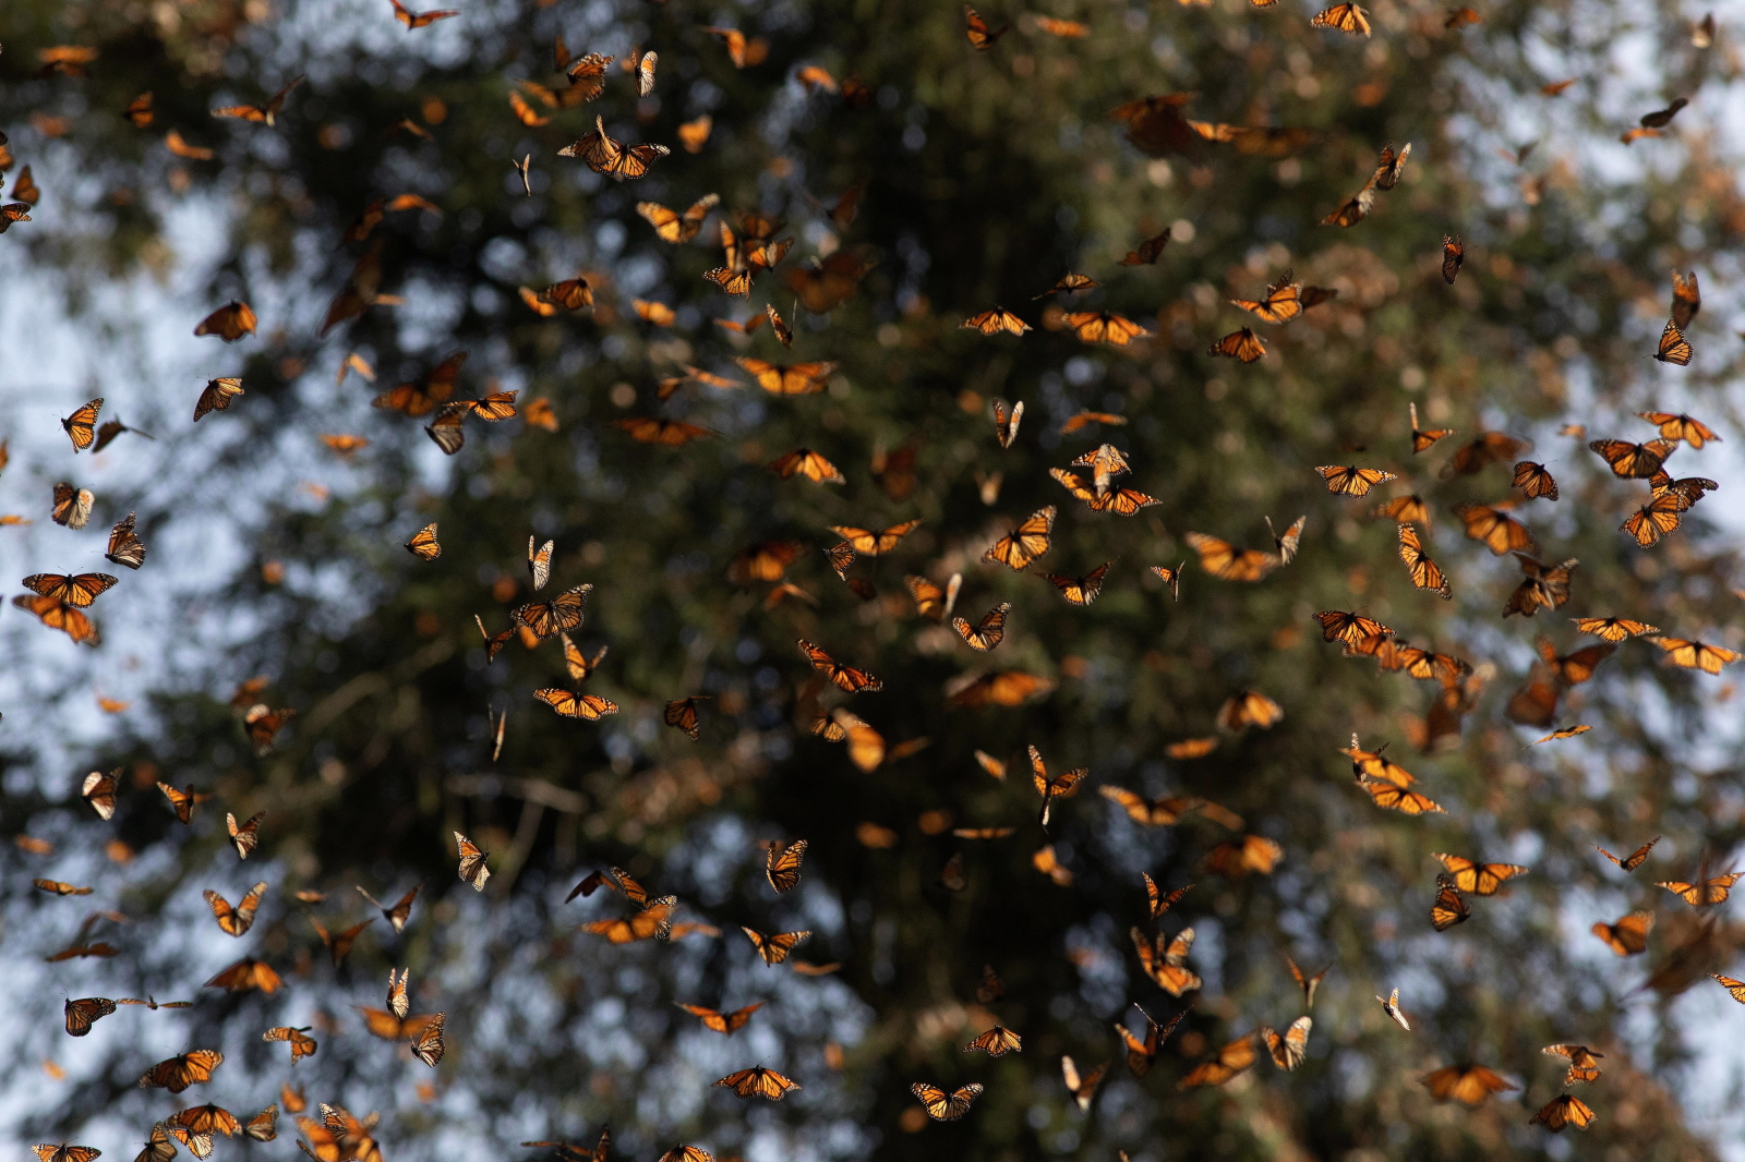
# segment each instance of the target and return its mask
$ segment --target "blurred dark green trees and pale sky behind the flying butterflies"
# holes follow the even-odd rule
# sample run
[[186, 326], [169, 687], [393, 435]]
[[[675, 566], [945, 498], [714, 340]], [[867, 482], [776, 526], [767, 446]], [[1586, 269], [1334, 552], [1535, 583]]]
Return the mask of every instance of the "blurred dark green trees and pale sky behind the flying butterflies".
[[[1745, 1157], [1745, 1008], [1705, 975], [1745, 975], [1745, 930], [1733, 904], [1700, 913], [1651, 886], [1733, 867], [1736, 679], [1668, 670], [1626, 642], [1557, 689], [1543, 721], [1508, 714], [1544, 682], [1537, 635], [1557, 654], [1597, 642], [1569, 616], [1745, 647], [1745, 87], [1726, 10], [1705, 26], [1703, 9], [1670, 0], [1553, 2], [1482, 5], [1473, 23], [1377, 0], [1373, 37], [1356, 38], [1310, 28], [1300, 5], [1047, 0], [982, 9], [1010, 28], [977, 52], [961, 10], [914, 0], [457, 7], [415, 30], [389, 0], [0, 12], [3, 201], [38, 188], [30, 222], [0, 237], [0, 513], [28, 522], [0, 527], [0, 560], [12, 578], [127, 574], [92, 611], [96, 647], [0, 614], [0, 827], [17, 839], [0, 855], [0, 1029], [16, 1045], [0, 1134], [122, 1155], [180, 1104], [251, 1113], [291, 1082], [311, 1103], [380, 1111], [396, 1162], [539, 1157], [515, 1143], [592, 1145], [604, 1124], [623, 1157], [682, 1141], [752, 1162]], [[567, 101], [558, 38], [616, 58], [599, 99]], [[647, 96], [623, 70], [640, 51], [660, 58]], [[297, 77], [272, 126], [209, 113], [265, 105]], [[1164, 94], [1190, 96], [1153, 108], [1150, 133], [1110, 117]], [[1689, 106], [1659, 136], [1621, 141], [1673, 98]], [[672, 155], [625, 183], [558, 157], [595, 113]], [[1399, 187], [1349, 230], [1317, 225], [1389, 141], [1412, 143]], [[668, 244], [637, 213], [707, 194], [742, 232], [761, 213], [794, 239], [749, 300], [701, 277], [719, 265], [715, 218]], [[366, 237], [347, 234], [373, 202]], [[1164, 234], [1155, 263], [1122, 265]], [[1443, 234], [1466, 248], [1454, 286]], [[1227, 305], [1288, 269], [1337, 298], [1284, 328]], [[1037, 298], [1068, 270], [1101, 286], [1066, 311], [1115, 311], [1155, 338], [1078, 342]], [[1687, 368], [1651, 359], [1670, 270], [1703, 288]], [[578, 276], [592, 309], [525, 305], [520, 288]], [[194, 337], [232, 298], [257, 333]], [[768, 325], [747, 333], [764, 304], [792, 326], [790, 351]], [[996, 304], [1037, 330], [960, 328]], [[1244, 325], [1269, 342], [1262, 361], [1206, 354]], [[518, 391], [522, 414], [469, 420], [448, 457], [426, 419], [372, 398], [459, 351], [455, 398]], [[820, 394], [775, 396], [738, 358], [836, 366]], [[213, 377], [241, 377], [244, 394], [192, 424]], [[94, 396], [136, 431], [75, 455], [56, 420]], [[1026, 407], [1009, 450], [995, 398]], [[548, 410], [529, 412], [534, 400]], [[1455, 434], [1412, 455], [1408, 403]], [[1646, 550], [1618, 530], [1644, 489], [1584, 448], [1653, 436], [1639, 410], [1691, 412], [1722, 436], [1668, 466], [1719, 492]], [[1080, 412], [1122, 422], [1063, 431]], [[712, 434], [661, 447], [614, 427], [646, 415]], [[1532, 441], [1523, 455], [1562, 499], [1513, 515], [1539, 558], [1581, 560], [1569, 605], [1532, 621], [1499, 618], [1520, 571], [1452, 513], [1509, 497], [1509, 464], [1438, 471], [1483, 431]], [[325, 434], [368, 443], [340, 452]], [[1091, 513], [1049, 478], [1105, 438], [1133, 464], [1122, 483], [1157, 506]], [[766, 471], [796, 447], [846, 483]], [[1314, 466], [1347, 462], [1399, 480], [1330, 496]], [[92, 490], [82, 530], [49, 520], [58, 482]], [[1370, 515], [1405, 494], [1431, 506], [1424, 539], [1452, 602], [1410, 586], [1394, 522]], [[979, 560], [1045, 504], [1059, 520], [1038, 567], [1115, 562], [1094, 605]], [[138, 574], [101, 557], [127, 513], [148, 546]], [[1269, 548], [1263, 518], [1298, 515], [1300, 555], [1258, 584], [1213, 579], [1183, 539]], [[820, 551], [839, 539], [829, 525], [914, 518], [888, 560], [855, 565], [859, 588]], [[419, 562], [401, 544], [431, 522], [443, 551]], [[496, 635], [532, 598], [529, 536], [557, 543], [541, 597], [593, 586], [574, 637], [607, 651], [583, 687], [618, 703], [600, 722], [532, 698], [569, 684], [555, 642], [510, 640], [487, 661], [475, 614]], [[1176, 600], [1148, 567], [1183, 560]], [[916, 612], [904, 576], [955, 572], [972, 621], [1012, 604], [993, 654]], [[1317, 635], [1321, 609], [1358, 609], [1475, 670], [1443, 689], [1344, 658]], [[846, 701], [883, 755], [867, 735], [850, 748], [815, 733], [845, 700], [796, 639], [883, 679]], [[263, 680], [237, 696], [250, 679]], [[1244, 689], [1281, 721], [1220, 731]], [[696, 742], [661, 721], [689, 694], [708, 696]], [[267, 754], [243, 728], [255, 701], [297, 712]], [[1593, 729], [1527, 748], [1577, 722]], [[1387, 743], [1447, 815], [1370, 804], [1338, 754], [1352, 733]], [[1216, 747], [1169, 757], [1192, 738]], [[1047, 832], [1026, 745], [1050, 771], [1091, 769]], [[79, 796], [94, 769], [120, 771], [108, 822]], [[157, 780], [213, 797], [183, 827]], [[1227, 813], [1145, 827], [1105, 785]], [[246, 864], [225, 811], [267, 813]], [[1000, 827], [1014, 832], [955, 834]], [[454, 830], [492, 853], [482, 893], [454, 876]], [[1281, 857], [1242, 865], [1225, 844], [1246, 836]], [[1591, 848], [1654, 836], [1633, 876]], [[803, 879], [778, 897], [763, 844], [792, 839], [810, 844]], [[1434, 933], [1431, 851], [1532, 871]], [[941, 883], [953, 857], [961, 890]], [[578, 932], [625, 914], [611, 892], [565, 902], [607, 865], [719, 935], [612, 946]], [[1195, 883], [1162, 919], [1197, 932], [1192, 1005], [1139, 970], [1127, 932], [1152, 926], [1141, 872]], [[31, 878], [94, 893], [49, 897]], [[270, 888], [253, 930], [223, 935], [201, 892], [234, 902], [257, 879]], [[316, 923], [379, 916], [354, 886], [389, 904], [417, 883], [403, 933], [377, 918], [333, 963]], [[1656, 914], [1646, 954], [1618, 958], [1590, 933], [1639, 907]], [[740, 925], [810, 930], [796, 960], [839, 967], [766, 967]], [[45, 960], [92, 940], [117, 954]], [[201, 988], [244, 954], [286, 988]], [[1305, 1064], [1178, 1090], [1220, 1045], [1302, 1012], [1286, 956], [1331, 965]], [[1003, 981], [996, 1000], [977, 998], [984, 965]], [[447, 1012], [435, 1073], [363, 1028], [356, 1007], [382, 1005], [391, 967], [410, 967], [415, 1012]], [[1372, 1000], [1394, 986], [1410, 1035]], [[195, 1005], [127, 1007], [84, 1040], [61, 1028], [63, 998], [148, 995]], [[675, 1008], [757, 1001], [731, 1038]], [[1187, 1008], [1143, 1078], [1112, 1029], [1143, 1028], [1133, 1001], [1157, 1021]], [[1023, 1052], [963, 1054], [995, 1021]], [[283, 1024], [311, 1026], [318, 1054], [290, 1066], [260, 1042]], [[1562, 1092], [1567, 1063], [1539, 1052], [1555, 1042], [1605, 1054], [1581, 1092], [1600, 1115], [1584, 1136], [1529, 1125]], [[227, 1061], [192, 1101], [136, 1089], [194, 1047]], [[1110, 1064], [1089, 1111], [1063, 1085], [1063, 1054]], [[1417, 1078], [1457, 1063], [1520, 1090], [1478, 1110], [1433, 1103]], [[752, 1064], [803, 1089], [749, 1106], [710, 1089]], [[955, 1124], [928, 1122], [909, 1092], [972, 1080], [986, 1092]], [[288, 1157], [293, 1129], [218, 1150]]]

